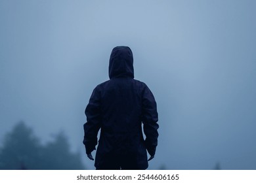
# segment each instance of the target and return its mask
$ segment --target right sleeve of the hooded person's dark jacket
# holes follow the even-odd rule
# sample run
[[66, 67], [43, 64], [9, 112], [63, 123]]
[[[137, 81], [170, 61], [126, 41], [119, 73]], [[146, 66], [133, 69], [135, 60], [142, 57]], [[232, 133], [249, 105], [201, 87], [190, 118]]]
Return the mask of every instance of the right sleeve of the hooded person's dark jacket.
[[142, 92], [142, 123], [146, 135], [145, 144], [150, 156], [156, 153], [158, 146], [158, 112], [154, 95], [146, 86]]

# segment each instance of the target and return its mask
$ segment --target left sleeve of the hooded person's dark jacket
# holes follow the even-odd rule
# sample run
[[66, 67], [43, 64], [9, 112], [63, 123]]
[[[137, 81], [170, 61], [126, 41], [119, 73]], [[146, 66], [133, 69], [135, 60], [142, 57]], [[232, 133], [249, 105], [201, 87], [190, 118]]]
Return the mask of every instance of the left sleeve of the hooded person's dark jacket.
[[85, 108], [85, 115], [87, 116], [87, 122], [83, 125], [85, 132], [83, 144], [85, 144], [86, 154], [89, 154], [95, 150], [101, 124], [100, 91], [98, 88], [93, 90], [89, 104]]

